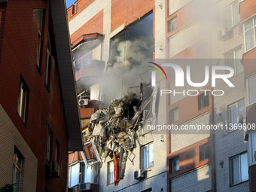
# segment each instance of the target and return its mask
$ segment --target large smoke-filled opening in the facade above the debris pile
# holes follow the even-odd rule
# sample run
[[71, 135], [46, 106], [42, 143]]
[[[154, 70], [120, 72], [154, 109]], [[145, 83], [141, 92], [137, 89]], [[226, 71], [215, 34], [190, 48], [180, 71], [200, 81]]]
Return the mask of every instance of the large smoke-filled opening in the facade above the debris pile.
[[[142, 66], [154, 56], [153, 14], [126, 26], [110, 41], [110, 56], [102, 83], [102, 99], [122, 98], [128, 87], [139, 86]], [[139, 91], [136, 92], [139, 96]]]

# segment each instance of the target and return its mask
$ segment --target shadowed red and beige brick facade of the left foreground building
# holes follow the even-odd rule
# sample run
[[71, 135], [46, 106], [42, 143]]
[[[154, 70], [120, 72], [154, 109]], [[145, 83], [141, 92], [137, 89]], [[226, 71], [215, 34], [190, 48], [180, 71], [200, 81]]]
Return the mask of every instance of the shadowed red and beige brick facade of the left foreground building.
[[[1, 122], [4, 123], [1, 129], [3, 138], [0, 156], [4, 157], [6, 163], [1, 164], [1, 167], [5, 168], [1, 168], [0, 187], [12, 183], [11, 164], [15, 145], [25, 159], [23, 191], [63, 192], [66, 191], [67, 183], [69, 136], [53, 35], [50, 41], [54, 59], [51, 60], [49, 69], [50, 83], [45, 84], [47, 36], [53, 30], [50, 2], [8, 1], [5, 5], [6, 12], [2, 10], [3, 6], [0, 3], [0, 103], [1, 111], [3, 111], [0, 117]], [[43, 10], [39, 67], [36, 66], [38, 22], [33, 13], [35, 9]], [[70, 65], [72, 65], [71, 62]], [[20, 79], [29, 89], [27, 90], [25, 121], [17, 112]], [[50, 160], [48, 161], [47, 133], [49, 127], [52, 135]], [[57, 158], [55, 157], [56, 142], [59, 143]], [[59, 163], [60, 176], [50, 178], [47, 169], [50, 169], [50, 162], [55, 158]]]

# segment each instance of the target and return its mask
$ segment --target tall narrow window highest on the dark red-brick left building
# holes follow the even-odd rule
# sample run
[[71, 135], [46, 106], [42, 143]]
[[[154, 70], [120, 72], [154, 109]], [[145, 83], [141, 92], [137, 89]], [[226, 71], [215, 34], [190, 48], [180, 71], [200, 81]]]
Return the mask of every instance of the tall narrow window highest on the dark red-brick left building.
[[36, 9], [34, 10], [36, 20], [38, 21], [38, 49], [37, 49], [37, 58], [36, 66], [40, 66], [40, 56], [41, 56], [41, 36], [42, 36], [42, 23], [43, 23], [43, 10]]

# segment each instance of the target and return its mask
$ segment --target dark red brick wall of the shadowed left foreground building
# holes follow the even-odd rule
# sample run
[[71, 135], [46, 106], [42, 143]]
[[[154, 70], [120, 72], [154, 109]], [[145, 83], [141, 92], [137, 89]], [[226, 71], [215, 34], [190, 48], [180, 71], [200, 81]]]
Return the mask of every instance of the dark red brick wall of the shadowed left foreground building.
[[[34, 8], [44, 8], [41, 74], [36, 67], [38, 29]], [[50, 69], [50, 91], [44, 85], [48, 17], [47, 1], [8, 1], [0, 65], [0, 102], [38, 158], [37, 191], [44, 192], [47, 188], [62, 192], [66, 191], [68, 135], [57, 63]], [[29, 87], [26, 124], [17, 114], [20, 75]], [[59, 142], [60, 178], [51, 179], [45, 175], [47, 124], [53, 131], [50, 161], [54, 158], [55, 139]]]

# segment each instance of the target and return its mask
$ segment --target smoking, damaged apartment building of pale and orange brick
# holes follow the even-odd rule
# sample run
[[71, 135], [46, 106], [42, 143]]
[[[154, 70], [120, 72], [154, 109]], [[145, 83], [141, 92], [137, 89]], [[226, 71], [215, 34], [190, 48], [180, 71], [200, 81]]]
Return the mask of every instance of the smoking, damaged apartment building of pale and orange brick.
[[[255, 132], [230, 128], [255, 123], [253, 0], [81, 0], [67, 14], [84, 134], [84, 152], [69, 154], [70, 191], [256, 190]], [[152, 87], [151, 69], [141, 66], [153, 59], [230, 66], [236, 88], [209, 81], [179, 89], [166, 67]], [[160, 96], [174, 89], [198, 94]], [[212, 94], [218, 89], [224, 96]], [[159, 132], [148, 124], [228, 129]]]

